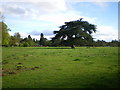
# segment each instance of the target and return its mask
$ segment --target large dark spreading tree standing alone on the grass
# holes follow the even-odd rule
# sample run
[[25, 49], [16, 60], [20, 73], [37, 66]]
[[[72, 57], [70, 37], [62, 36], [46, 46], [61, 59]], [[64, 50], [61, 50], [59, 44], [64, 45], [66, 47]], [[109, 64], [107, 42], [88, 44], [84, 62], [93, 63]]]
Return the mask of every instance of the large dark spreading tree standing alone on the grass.
[[60, 41], [69, 46], [73, 45], [92, 45], [93, 38], [91, 34], [96, 32], [96, 26], [87, 21], [80, 20], [65, 22], [60, 26], [59, 31], [54, 31], [55, 37], [52, 38], [53, 43]]

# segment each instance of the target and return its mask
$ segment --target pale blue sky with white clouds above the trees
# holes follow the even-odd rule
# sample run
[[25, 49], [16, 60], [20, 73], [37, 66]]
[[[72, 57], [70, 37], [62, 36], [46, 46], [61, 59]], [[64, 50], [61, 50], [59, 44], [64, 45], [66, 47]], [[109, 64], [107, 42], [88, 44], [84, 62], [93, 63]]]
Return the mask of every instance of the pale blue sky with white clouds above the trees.
[[22, 38], [40, 34], [51, 39], [53, 31], [64, 22], [83, 18], [97, 26], [94, 40], [118, 40], [118, 2], [103, 0], [3, 0], [0, 12], [11, 29], [10, 35], [19, 32]]

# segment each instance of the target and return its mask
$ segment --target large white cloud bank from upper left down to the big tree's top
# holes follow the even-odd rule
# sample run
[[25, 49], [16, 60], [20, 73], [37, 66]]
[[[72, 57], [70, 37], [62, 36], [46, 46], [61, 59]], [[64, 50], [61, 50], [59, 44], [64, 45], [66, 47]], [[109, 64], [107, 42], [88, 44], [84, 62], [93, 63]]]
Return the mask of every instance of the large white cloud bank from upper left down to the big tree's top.
[[[14, 0], [13, 0], [14, 1]], [[39, 0], [38, 0], [39, 1]], [[7, 2], [2, 5], [2, 12], [6, 15], [16, 15], [22, 18], [30, 18], [52, 22], [58, 25], [71, 20], [84, 18], [89, 22], [96, 18], [84, 17], [80, 11], [71, 10], [67, 7], [66, 0], [45, 0], [39, 2]]]

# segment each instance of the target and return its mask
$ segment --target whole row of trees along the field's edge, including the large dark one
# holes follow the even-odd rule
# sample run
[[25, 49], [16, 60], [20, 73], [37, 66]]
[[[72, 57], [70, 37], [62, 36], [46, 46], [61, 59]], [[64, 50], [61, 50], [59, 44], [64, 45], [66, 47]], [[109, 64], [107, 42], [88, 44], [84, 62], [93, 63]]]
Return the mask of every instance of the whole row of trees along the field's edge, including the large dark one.
[[94, 41], [92, 33], [96, 32], [96, 25], [90, 24], [87, 21], [83, 21], [82, 18], [76, 21], [65, 22], [64, 25], [59, 27], [59, 31], [54, 31], [55, 36], [48, 40], [44, 37], [44, 34], [40, 34], [40, 39], [32, 39], [30, 35], [26, 38], [21, 38], [19, 32], [14, 33], [13, 36], [10, 36], [10, 29], [2, 21], [0, 22], [0, 30], [2, 32], [2, 40], [0, 45], [2, 46], [112, 46], [117, 47], [119, 41], [112, 40], [111, 42], [106, 42], [104, 40]]

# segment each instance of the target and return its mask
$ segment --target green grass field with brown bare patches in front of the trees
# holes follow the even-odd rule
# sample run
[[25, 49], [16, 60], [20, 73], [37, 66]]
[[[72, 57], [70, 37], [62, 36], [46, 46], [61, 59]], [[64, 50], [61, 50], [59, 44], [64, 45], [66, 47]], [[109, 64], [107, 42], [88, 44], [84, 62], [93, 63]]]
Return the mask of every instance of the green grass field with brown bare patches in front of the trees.
[[117, 47], [3, 48], [3, 88], [117, 88]]

